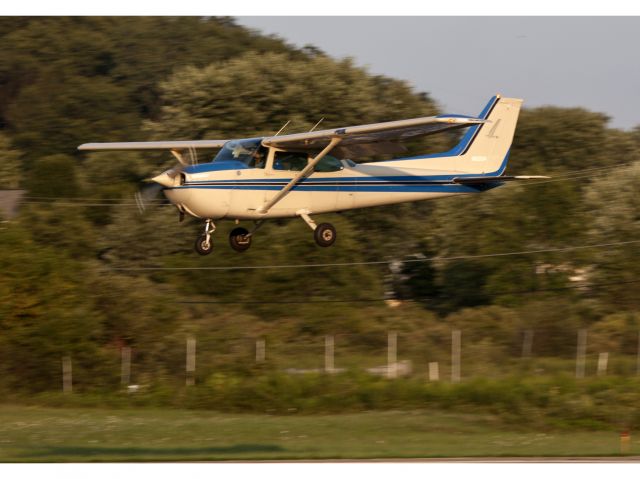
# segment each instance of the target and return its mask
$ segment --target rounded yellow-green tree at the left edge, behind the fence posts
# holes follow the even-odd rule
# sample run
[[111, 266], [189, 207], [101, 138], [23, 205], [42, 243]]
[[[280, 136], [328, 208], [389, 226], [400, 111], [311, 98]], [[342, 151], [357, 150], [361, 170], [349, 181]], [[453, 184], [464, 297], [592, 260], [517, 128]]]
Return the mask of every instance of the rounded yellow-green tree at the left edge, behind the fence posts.
[[61, 387], [61, 360], [71, 356], [79, 384], [102, 370], [101, 315], [92, 310], [84, 267], [38, 246], [18, 226], [0, 230], [0, 364], [5, 380], [27, 390]]

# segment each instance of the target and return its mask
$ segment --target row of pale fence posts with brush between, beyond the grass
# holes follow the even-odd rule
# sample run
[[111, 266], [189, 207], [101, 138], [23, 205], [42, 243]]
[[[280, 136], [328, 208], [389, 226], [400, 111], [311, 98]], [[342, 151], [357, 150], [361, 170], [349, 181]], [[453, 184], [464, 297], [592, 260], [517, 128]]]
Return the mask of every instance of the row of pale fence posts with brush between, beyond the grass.
[[[431, 351], [416, 350], [416, 342], [408, 343], [403, 349], [402, 339], [409, 339], [410, 335], [400, 335], [397, 331], [386, 333], [386, 351], [382, 348], [378, 353], [368, 354], [358, 351], [353, 344], [345, 341], [344, 351], [341, 351], [340, 339], [353, 335], [325, 335], [319, 338], [314, 347], [308, 341], [302, 346], [288, 342], [274, 341], [270, 344], [268, 338], [233, 338], [240, 340], [244, 348], [235, 348], [238, 358], [244, 355], [244, 364], [252, 363], [255, 367], [266, 367], [284, 371], [291, 375], [308, 373], [337, 374], [348, 369], [359, 369], [371, 374], [396, 379], [398, 377], [421, 377], [426, 381], [449, 380], [459, 382], [465, 377], [500, 376], [503, 374], [554, 374], [568, 373], [573, 367], [572, 374], [577, 379], [586, 376], [605, 376], [607, 374], [622, 374], [640, 376], [640, 333], [637, 336], [637, 352], [635, 355], [621, 354], [616, 351], [598, 351], [588, 345], [588, 331], [580, 329], [576, 334], [575, 359], [558, 357], [536, 357], [534, 330], [521, 331], [522, 344], [518, 348], [519, 354], [511, 357], [493, 357], [496, 346], [486, 341], [472, 344], [466, 340], [462, 330], [450, 331], [450, 337], [440, 342], [439, 349]], [[307, 338], [308, 339], [308, 338]], [[378, 338], [379, 340], [380, 338]], [[231, 340], [229, 340], [231, 341]], [[380, 342], [380, 341], [379, 341]], [[251, 343], [252, 348], [247, 346]], [[197, 340], [188, 337], [183, 346], [186, 353], [184, 362], [184, 381], [186, 386], [197, 384], [197, 378], [206, 378], [215, 373], [217, 368], [228, 368], [228, 364], [221, 366], [216, 358], [219, 349], [212, 348], [209, 341], [205, 346], [198, 346], [201, 358], [196, 361]], [[411, 347], [409, 347], [409, 345]], [[283, 354], [283, 348], [288, 351]], [[233, 348], [231, 348], [233, 349]], [[253, 349], [253, 351], [249, 351]], [[499, 347], [497, 349], [500, 349]], [[447, 352], [448, 351], [448, 352]], [[386, 360], [384, 356], [386, 352]], [[135, 351], [128, 346], [120, 350], [120, 383], [129, 391], [136, 391]], [[229, 358], [227, 358], [229, 359]], [[236, 359], [237, 360], [237, 359]], [[196, 365], [199, 369], [196, 369]], [[573, 365], [573, 366], [572, 366]], [[202, 372], [201, 372], [202, 371]], [[65, 393], [73, 391], [72, 358], [62, 358], [62, 389]]]

